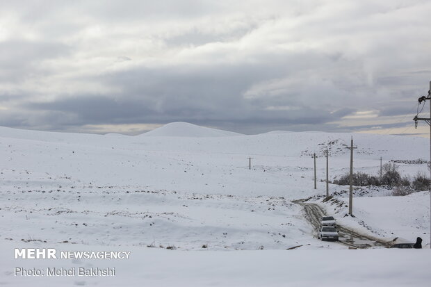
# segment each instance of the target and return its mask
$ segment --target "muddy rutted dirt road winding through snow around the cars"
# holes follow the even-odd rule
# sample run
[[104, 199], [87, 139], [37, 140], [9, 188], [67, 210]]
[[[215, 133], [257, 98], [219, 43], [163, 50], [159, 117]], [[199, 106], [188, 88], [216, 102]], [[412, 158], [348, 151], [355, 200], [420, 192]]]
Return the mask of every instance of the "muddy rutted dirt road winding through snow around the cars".
[[[311, 204], [304, 202], [303, 200], [295, 200], [293, 201], [295, 204], [300, 204], [302, 207], [304, 207], [304, 213], [305, 218], [313, 225], [316, 235], [317, 230], [320, 226], [320, 218], [322, 218], [323, 215], [325, 215], [325, 212], [323, 211], [320, 206], [317, 204]], [[337, 229], [340, 233], [339, 243], [343, 245], [347, 245], [350, 247], [356, 247], [356, 248], [369, 248], [373, 246], [380, 246], [380, 247], [390, 247], [391, 243], [387, 241], [382, 241], [377, 238], [373, 238], [372, 236], [368, 236], [366, 234], [358, 233], [357, 231], [353, 231], [352, 229], [348, 229], [347, 227], [343, 227], [339, 224], [337, 224]]]

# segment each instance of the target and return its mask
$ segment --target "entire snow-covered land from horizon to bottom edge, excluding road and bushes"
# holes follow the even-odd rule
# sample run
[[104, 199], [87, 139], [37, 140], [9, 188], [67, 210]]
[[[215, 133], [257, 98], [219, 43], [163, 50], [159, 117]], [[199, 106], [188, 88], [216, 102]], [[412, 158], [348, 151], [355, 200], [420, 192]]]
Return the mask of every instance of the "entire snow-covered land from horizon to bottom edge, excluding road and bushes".
[[[429, 248], [429, 192], [390, 197], [384, 188], [358, 191], [355, 218], [344, 217], [348, 187], [330, 185], [330, 192], [341, 194], [337, 202], [317, 199], [325, 194], [325, 149], [334, 179], [348, 172], [351, 136], [358, 146], [356, 171], [377, 174], [380, 156], [384, 163], [429, 156], [428, 139], [401, 136], [245, 136], [186, 123], [140, 136], [0, 128], [0, 248], [10, 255], [0, 261], [0, 284], [30, 284], [14, 276], [17, 263], [52, 265], [13, 259], [13, 248], [37, 246], [134, 254], [122, 263], [98, 261], [117, 265], [111, 281], [31, 278], [48, 286], [117, 286], [126, 278], [133, 286], [309, 286], [319, 278], [320, 286], [428, 286], [431, 275], [422, 266], [430, 265], [429, 249], [347, 250], [322, 243], [302, 207], [291, 202], [314, 197], [345, 226], [382, 240], [421, 236]], [[314, 152], [320, 156], [317, 190]], [[398, 165], [403, 175], [428, 174], [425, 163]]]

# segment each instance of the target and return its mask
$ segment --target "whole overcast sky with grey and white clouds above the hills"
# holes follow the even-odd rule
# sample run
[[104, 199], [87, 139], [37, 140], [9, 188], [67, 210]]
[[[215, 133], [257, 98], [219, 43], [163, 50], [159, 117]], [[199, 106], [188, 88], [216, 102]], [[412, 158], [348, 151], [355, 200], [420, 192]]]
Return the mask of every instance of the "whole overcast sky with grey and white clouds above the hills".
[[0, 125], [428, 133], [412, 117], [430, 15], [429, 0], [0, 1]]

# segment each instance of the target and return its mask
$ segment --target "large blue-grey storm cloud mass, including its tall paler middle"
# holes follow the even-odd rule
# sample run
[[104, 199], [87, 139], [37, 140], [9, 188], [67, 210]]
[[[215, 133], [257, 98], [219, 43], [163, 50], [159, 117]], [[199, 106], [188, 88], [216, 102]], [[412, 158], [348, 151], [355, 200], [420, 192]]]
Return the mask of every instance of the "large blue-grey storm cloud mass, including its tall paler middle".
[[[256, 125], [324, 124], [353, 113], [355, 109], [352, 108], [335, 111], [330, 106], [316, 108], [300, 95], [286, 97], [288, 95], [282, 94], [263, 100], [243, 97], [254, 82], [285, 75], [286, 71], [303, 65], [298, 61], [301, 57], [303, 55], [298, 54], [280, 58], [273, 65], [263, 62], [259, 65], [138, 67], [99, 79], [122, 87], [119, 94], [64, 95], [53, 101], [26, 103], [23, 108], [43, 113], [61, 111], [80, 119], [75, 124], [186, 121], [225, 128], [226, 122], [235, 122], [238, 131]], [[277, 110], [278, 107], [295, 109]]]

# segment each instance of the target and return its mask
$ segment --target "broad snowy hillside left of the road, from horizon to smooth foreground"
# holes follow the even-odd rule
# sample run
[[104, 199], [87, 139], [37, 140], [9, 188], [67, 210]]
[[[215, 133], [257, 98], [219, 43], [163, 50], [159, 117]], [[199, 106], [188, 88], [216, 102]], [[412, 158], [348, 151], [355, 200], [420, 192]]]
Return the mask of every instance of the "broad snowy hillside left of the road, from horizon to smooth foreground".
[[[213, 249], [285, 249], [298, 242], [316, 246], [320, 243], [314, 242], [313, 229], [291, 200], [325, 193], [320, 182], [325, 179], [325, 149], [330, 150], [330, 179], [348, 171], [351, 136], [358, 146], [356, 171], [377, 174], [380, 156], [384, 163], [428, 158], [427, 139], [402, 136], [245, 136], [186, 123], [140, 136], [0, 128], [0, 215], [8, 218], [0, 234], [27, 240], [30, 233], [51, 243], [89, 245], [146, 246], [157, 238], [163, 246], [186, 249], [203, 244]], [[314, 153], [320, 156], [317, 190]], [[399, 165], [405, 175], [427, 171], [425, 163]], [[331, 192], [344, 189], [330, 185]], [[110, 233], [106, 222], [113, 228]], [[44, 232], [51, 227], [55, 231]], [[120, 230], [127, 235], [120, 236]]]

